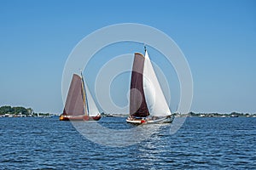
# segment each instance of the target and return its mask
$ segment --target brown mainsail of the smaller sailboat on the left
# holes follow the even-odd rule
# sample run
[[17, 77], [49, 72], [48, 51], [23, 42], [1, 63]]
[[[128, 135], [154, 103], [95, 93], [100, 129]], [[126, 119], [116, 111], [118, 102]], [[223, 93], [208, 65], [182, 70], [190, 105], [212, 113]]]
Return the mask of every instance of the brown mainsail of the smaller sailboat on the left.
[[67, 116], [82, 116], [86, 110], [84, 108], [84, 87], [81, 77], [73, 74], [72, 82], [67, 94], [67, 100], [63, 115]]

